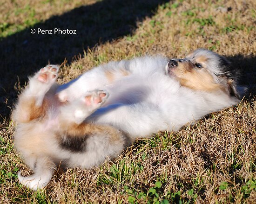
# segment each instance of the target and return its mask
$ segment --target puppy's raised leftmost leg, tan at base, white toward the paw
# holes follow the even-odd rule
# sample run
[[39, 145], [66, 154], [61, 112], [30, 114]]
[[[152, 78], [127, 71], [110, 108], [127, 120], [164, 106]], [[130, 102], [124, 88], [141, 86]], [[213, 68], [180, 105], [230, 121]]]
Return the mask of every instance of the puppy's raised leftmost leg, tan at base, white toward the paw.
[[45, 94], [53, 86], [58, 76], [59, 67], [47, 65], [29, 78], [29, 85], [20, 95], [13, 111], [13, 119], [18, 123], [26, 123], [45, 114]]

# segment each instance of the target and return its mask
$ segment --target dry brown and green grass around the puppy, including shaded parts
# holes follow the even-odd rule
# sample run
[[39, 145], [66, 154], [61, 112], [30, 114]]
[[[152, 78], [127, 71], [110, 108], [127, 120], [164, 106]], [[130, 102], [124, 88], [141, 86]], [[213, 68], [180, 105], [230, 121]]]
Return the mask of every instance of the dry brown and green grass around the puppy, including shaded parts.
[[[1, 6], [0, 203], [255, 203], [255, 1], [125, 2], [12, 0]], [[30, 33], [53, 27], [78, 34]], [[111, 60], [184, 57], [198, 47], [225, 55], [242, 70], [249, 93], [237, 107], [178, 133], [137, 140], [100, 167], [59, 169], [42, 191], [18, 183], [20, 169], [31, 172], [13, 148], [10, 114], [28, 75], [50, 61], [62, 64], [58, 81], [65, 83]]]

